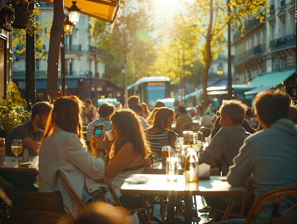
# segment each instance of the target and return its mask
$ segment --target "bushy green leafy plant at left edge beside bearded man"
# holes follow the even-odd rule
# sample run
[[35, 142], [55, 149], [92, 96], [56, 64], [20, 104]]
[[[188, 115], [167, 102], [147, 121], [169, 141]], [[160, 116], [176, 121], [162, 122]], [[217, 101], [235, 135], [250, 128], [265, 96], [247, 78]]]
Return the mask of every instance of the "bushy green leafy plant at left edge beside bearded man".
[[8, 134], [15, 126], [30, 120], [31, 111], [15, 83], [10, 82], [7, 89], [9, 96], [0, 102], [0, 130]]

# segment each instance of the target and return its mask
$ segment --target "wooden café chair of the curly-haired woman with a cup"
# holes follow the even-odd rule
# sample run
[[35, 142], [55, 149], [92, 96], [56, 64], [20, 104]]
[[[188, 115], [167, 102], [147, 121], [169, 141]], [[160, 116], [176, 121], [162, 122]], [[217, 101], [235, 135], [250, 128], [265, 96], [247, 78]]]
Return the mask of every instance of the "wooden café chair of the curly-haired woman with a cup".
[[115, 190], [113, 189], [112, 184], [110, 183], [110, 181], [108, 180], [108, 178], [103, 175], [102, 179], [105, 181], [108, 189], [110, 190], [110, 193], [116, 203], [116, 206], [118, 206], [119, 208], [122, 209], [122, 211], [124, 212], [124, 214], [130, 215], [131, 212], [137, 212], [139, 220], [142, 220], [143, 222], [145, 222], [145, 213], [147, 215], [147, 219], [148, 219], [148, 223], [151, 224], [151, 213], [150, 213], [150, 209], [153, 209], [152, 204], [147, 201], [147, 200], [143, 200], [140, 201], [140, 207], [137, 209], [132, 209], [132, 210], [126, 210], [124, 209], [124, 207], [121, 204], [121, 201], [118, 197], [118, 195], [116, 194]]

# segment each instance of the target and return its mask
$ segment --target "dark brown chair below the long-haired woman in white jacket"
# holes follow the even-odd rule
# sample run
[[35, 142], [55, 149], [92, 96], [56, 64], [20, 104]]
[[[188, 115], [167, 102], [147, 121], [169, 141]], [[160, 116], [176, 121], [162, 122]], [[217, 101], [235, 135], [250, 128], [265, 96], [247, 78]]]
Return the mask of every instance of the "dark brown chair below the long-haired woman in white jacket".
[[72, 221], [73, 217], [64, 210], [60, 192], [26, 192], [10, 217], [10, 223], [15, 224], [66, 224]]

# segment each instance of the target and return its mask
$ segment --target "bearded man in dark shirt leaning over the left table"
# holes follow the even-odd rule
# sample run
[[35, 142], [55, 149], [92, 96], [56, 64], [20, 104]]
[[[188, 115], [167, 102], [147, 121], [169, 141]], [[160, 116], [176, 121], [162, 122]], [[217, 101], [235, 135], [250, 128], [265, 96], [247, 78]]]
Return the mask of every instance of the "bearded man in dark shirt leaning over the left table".
[[26, 148], [29, 156], [35, 156], [40, 145], [39, 140], [44, 134], [48, 114], [52, 108], [53, 104], [46, 101], [34, 104], [31, 110], [31, 120], [15, 126], [5, 138], [5, 154], [15, 156], [11, 151], [11, 143], [14, 139], [20, 139], [23, 143], [23, 150]]

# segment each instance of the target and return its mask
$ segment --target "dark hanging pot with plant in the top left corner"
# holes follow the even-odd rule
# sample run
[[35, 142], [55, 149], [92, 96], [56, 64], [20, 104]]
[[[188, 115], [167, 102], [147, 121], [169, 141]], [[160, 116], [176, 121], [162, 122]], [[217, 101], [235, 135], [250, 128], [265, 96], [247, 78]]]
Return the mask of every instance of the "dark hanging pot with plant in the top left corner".
[[27, 29], [28, 2], [26, 0], [11, 0], [7, 4], [15, 10], [15, 20], [12, 23], [12, 27], [16, 29]]

